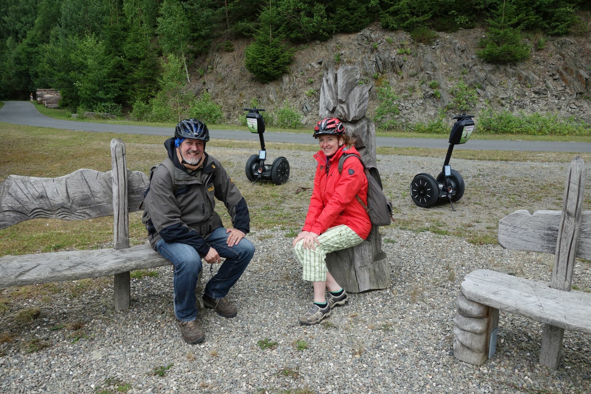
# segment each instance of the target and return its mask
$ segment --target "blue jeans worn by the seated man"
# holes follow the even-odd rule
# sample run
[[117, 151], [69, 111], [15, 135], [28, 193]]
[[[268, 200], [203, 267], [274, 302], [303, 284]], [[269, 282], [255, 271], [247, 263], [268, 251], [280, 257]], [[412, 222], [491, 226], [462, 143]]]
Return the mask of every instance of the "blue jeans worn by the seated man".
[[[228, 234], [223, 227], [213, 230], [206, 238], [207, 244], [217, 250], [222, 259], [226, 259], [205, 286], [203, 294], [213, 299], [226, 297], [255, 253], [255, 246], [248, 239], [242, 238], [238, 245], [232, 248], [228, 246], [227, 239]], [[158, 241], [156, 249], [174, 265], [174, 315], [181, 321], [195, 320], [195, 288], [197, 276], [203, 268], [201, 256], [193, 246], [177, 242], [168, 243], [163, 239]]]

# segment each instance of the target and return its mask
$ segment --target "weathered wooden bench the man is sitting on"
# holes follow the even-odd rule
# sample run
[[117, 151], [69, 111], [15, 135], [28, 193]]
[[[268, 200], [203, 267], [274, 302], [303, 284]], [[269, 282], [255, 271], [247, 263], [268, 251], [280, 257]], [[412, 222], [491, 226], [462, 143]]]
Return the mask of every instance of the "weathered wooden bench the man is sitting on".
[[83, 168], [59, 178], [9, 175], [0, 184], [0, 228], [24, 220], [113, 215], [113, 249], [69, 250], [0, 258], [0, 288], [115, 275], [115, 310], [129, 307], [129, 271], [170, 265], [150, 245], [129, 247], [129, 212], [137, 211], [148, 177], [126, 166], [125, 144], [111, 140], [112, 171]]

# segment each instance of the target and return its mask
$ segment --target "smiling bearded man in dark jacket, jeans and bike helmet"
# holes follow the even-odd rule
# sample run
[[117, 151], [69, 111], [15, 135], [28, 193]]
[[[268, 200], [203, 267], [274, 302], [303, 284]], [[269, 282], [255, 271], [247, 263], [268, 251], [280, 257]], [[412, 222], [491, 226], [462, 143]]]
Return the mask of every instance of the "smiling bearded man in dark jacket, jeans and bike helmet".
[[[236, 307], [225, 297], [255, 252], [244, 238], [250, 227], [246, 201], [222, 164], [205, 152], [207, 141], [209, 130], [202, 121], [178, 123], [174, 137], [164, 142], [168, 158], [152, 172], [142, 217], [150, 245], [174, 265], [174, 314], [188, 343], [205, 338], [195, 306], [201, 259], [213, 264], [225, 258], [205, 286], [203, 303], [223, 317], [234, 317]], [[233, 228], [223, 227], [213, 197], [225, 204]]]

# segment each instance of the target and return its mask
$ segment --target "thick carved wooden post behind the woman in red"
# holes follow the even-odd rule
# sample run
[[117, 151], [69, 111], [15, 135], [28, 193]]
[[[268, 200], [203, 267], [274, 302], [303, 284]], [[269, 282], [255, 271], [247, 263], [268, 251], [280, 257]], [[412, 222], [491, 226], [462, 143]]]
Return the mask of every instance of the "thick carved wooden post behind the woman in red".
[[[345, 132], [355, 136], [355, 148], [363, 162], [376, 165], [375, 125], [365, 113], [369, 102], [368, 84], [359, 84], [359, 67], [340, 67], [324, 73], [320, 89], [320, 119], [334, 116], [345, 125]], [[368, 239], [353, 248], [337, 250], [326, 256], [326, 265], [349, 292], [385, 289], [392, 285], [390, 264], [382, 251], [382, 236], [372, 227]]]

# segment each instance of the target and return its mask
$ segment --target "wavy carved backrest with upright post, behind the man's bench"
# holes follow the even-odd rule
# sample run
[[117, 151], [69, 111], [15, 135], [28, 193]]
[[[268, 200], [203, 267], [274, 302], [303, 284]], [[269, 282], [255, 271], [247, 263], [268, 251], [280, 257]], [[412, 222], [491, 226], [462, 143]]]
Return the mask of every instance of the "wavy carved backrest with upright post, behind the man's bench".
[[111, 157], [113, 170], [107, 172], [82, 168], [57, 178], [9, 175], [0, 184], [0, 229], [41, 217], [82, 220], [110, 216], [114, 204], [115, 248], [129, 247], [127, 212], [138, 210], [149, 181], [141, 171], [126, 170], [121, 139], [111, 141]]

